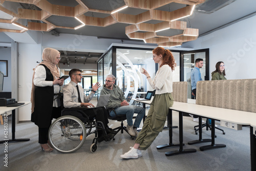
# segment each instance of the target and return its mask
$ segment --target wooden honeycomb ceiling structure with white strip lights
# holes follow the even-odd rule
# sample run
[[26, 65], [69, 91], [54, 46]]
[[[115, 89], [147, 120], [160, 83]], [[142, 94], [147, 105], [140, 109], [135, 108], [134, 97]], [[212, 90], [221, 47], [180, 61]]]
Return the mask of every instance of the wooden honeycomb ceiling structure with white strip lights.
[[[183, 35], [186, 22], [178, 21], [193, 13], [194, 7], [205, 0], [1, 0], [18, 9], [9, 10], [0, 6], [0, 10], [13, 16], [2, 19], [0, 23], [18, 23], [17, 27], [36, 31], [106, 37], [123, 37], [144, 40], [155, 38], [152, 42], [170, 40], [168, 37]], [[122, 7], [127, 7], [121, 9]], [[118, 10], [118, 11], [117, 11]], [[119, 11], [120, 10], [120, 11]], [[115, 12], [115, 13], [114, 13]], [[32, 23], [30, 22], [32, 21]], [[173, 22], [174, 21], [174, 22]], [[43, 23], [44, 22], [44, 23]], [[46, 23], [46, 24], [45, 24]], [[118, 28], [118, 29], [117, 29]], [[119, 29], [122, 28], [122, 29]], [[125, 28], [125, 29], [123, 29]], [[168, 29], [172, 28], [172, 29]], [[168, 29], [168, 30], [165, 30]], [[12, 32], [9, 29], [9, 32]], [[8, 29], [0, 31], [8, 31]], [[160, 31], [160, 32], [155, 32]], [[194, 39], [198, 31], [190, 30]], [[189, 33], [190, 33], [189, 32]], [[58, 35], [58, 34], [53, 35]], [[188, 34], [188, 36], [190, 36]], [[165, 39], [164, 39], [165, 38]], [[167, 39], [166, 39], [167, 38]], [[183, 38], [182, 42], [191, 38]], [[181, 41], [181, 40], [180, 40]]]

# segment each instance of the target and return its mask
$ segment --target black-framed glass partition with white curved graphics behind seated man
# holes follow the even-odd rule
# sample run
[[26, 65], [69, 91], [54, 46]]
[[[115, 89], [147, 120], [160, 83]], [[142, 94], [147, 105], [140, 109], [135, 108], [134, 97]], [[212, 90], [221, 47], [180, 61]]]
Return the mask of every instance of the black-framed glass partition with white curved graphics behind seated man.
[[[132, 98], [143, 97], [145, 92], [153, 90], [146, 76], [140, 72], [140, 69], [144, 68], [154, 79], [158, 64], [153, 60], [152, 50], [113, 46], [98, 61], [98, 81], [103, 85], [103, 80], [107, 75], [115, 75], [115, 84], [120, 87], [127, 101], [132, 104]], [[173, 72], [174, 81], [180, 81], [180, 53], [172, 53], [177, 63]]]

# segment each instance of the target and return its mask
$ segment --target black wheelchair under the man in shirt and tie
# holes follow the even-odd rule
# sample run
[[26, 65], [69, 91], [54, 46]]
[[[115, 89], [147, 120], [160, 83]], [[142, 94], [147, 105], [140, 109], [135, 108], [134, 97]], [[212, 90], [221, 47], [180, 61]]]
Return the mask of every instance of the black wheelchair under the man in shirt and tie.
[[[103, 135], [107, 135], [105, 127], [101, 121], [90, 119], [82, 110], [84, 108], [65, 108], [61, 111], [61, 117], [51, 124], [48, 137], [54, 149], [61, 153], [72, 153], [79, 149], [86, 137], [95, 134], [90, 151], [97, 150], [98, 129], [103, 130]], [[92, 128], [95, 130], [92, 131]], [[105, 139], [109, 141], [109, 139]]]

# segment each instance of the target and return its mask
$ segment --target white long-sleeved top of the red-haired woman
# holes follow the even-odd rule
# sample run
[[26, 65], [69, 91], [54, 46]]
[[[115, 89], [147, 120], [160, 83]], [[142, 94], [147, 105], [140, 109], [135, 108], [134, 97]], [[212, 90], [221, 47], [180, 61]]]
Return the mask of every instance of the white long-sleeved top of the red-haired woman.
[[158, 69], [154, 79], [147, 79], [153, 89], [156, 89], [155, 94], [164, 94], [173, 92], [173, 72], [168, 65], [163, 65]]

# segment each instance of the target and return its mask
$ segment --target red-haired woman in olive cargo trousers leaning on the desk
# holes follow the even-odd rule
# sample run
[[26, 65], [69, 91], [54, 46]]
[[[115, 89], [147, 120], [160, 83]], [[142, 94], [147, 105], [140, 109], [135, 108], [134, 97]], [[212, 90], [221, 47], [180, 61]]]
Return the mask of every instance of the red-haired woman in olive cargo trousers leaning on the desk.
[[169, 50], [157, 47], [153, 50], [153, 60], [159, 65], [155, 78], [152, 79], [145, 69], [143, 69], [143, 74], [146, 75], [156, 93], [134, 146], [130, 147], [129, 152], [121, 155], [124, 159], [137, 159], [142, 156], [141, 150], [146, 150], [163, 131], [169, 107], [174, 104], [171, 94], [173, 92], [173, 70], [176, 66], [174, 56]]

